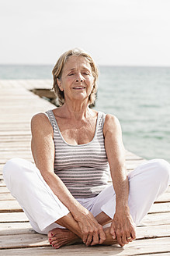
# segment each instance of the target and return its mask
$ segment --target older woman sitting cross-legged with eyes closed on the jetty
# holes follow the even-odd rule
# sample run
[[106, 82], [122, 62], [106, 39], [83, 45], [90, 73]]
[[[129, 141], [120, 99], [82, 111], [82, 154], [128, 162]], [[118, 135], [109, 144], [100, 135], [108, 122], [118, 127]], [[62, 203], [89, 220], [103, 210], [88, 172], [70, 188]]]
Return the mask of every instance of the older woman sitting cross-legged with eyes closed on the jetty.
[[98, 78], [90, 55], [65, 52], [53, 76], [61, 106], [33, 116], [36, 165], [9, 160], [5, 183], [33, 229], [48, 233], [55, 248], [78, 239], [123, 247], [136, 239], [135, 226], [168, 187], [170, 165], [154, 159], [127, 175], [118, 119], [89, 108]]

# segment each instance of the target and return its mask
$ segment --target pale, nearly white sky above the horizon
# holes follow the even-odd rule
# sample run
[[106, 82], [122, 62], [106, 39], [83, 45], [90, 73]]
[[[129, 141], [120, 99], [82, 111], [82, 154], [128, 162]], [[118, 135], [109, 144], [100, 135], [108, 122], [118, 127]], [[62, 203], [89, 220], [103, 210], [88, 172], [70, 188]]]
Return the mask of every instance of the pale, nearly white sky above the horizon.
[[169, 0], [0, 0], [0, 31], [0, 64], [78, 47], [99, 65], [170, 66]]

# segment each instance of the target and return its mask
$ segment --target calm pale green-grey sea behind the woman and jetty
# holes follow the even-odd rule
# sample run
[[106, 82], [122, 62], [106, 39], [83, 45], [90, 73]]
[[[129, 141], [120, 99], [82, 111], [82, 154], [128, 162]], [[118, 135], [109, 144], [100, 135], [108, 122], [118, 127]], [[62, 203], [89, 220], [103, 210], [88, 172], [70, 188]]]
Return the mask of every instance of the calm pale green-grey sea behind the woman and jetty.
[[[0, 79], [52, 79], [50, 65], [0, 65]], [[115, 115], [127, 150], [170, 162], [170, 67], [99, 66], [95, 109]]]

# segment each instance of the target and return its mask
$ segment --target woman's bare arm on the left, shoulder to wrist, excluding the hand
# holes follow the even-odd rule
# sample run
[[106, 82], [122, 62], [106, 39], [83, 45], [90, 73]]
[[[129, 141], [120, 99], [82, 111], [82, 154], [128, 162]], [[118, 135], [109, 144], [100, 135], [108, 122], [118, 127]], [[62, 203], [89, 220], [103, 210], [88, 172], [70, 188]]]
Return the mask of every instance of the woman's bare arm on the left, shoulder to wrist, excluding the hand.
[[[37, 114], [31, 120], [31, 150], [36, 167], [54, 194], [64, 203], [70, 212], [75, 211], [78, 204], [65, 187], [61, 179], [54, 173], [54, 141], [53, 129], [47, 116]], [[73, 202], [74, 201], [74, 202]]]

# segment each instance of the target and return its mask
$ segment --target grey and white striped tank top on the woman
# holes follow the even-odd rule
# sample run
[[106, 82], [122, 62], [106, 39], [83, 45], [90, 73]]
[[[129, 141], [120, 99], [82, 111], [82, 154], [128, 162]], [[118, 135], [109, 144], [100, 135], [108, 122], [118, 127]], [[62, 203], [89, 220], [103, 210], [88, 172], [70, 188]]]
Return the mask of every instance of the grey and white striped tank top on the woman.
[[54, 130], [54, 172], [74, 197], [95, 197], [109, 181], [109, 164], [103, 137], [105, 114], [98, 112], [95, 135], [88, 144], [68, 144], [52, 110], [46, 112]]

